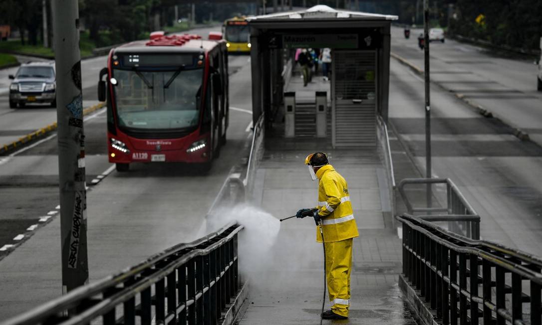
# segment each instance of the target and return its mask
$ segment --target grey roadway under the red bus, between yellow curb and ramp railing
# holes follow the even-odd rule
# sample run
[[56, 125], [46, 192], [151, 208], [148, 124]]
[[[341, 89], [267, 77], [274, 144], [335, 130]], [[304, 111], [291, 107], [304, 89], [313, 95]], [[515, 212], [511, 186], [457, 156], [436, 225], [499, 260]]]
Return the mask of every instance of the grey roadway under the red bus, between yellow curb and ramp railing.
[[[87, 117], [91, 281], [196, 238], [231, 167], [241, 162], [250, 134], [248, 56], [231, 56], [229, 64], [228, 141], [207, 175], [183, 164], [132, 164], [130, 172], [117, 173], [107, 161], [105, 110]], [[106, 171], [112, 172], [92, 185]], [[0, 319], [5, 319], [61, 294], [56, 138], [4, 160], [0, 184], [0, 247], [17, 245], [18, 235], [28, 239], [0, 251], [0, 292], [17, 292], [16, 300], [0, 294]], [[40, 222], [46, 216], [52, 218]], [[34, 224], [36, 230], [27, 230]]]

